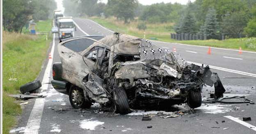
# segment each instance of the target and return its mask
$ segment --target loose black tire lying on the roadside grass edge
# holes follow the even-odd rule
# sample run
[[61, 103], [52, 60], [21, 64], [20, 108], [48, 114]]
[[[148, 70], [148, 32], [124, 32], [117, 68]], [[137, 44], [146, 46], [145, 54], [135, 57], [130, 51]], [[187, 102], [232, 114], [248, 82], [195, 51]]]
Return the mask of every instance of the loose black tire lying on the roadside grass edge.
[[25, 92], [32, 92], [34, 90], [37, 90], [42, 86], [41, 82], [37, 79], [32, 82], [26, 83], [20, 87], [20, 91], [22, 94]]

